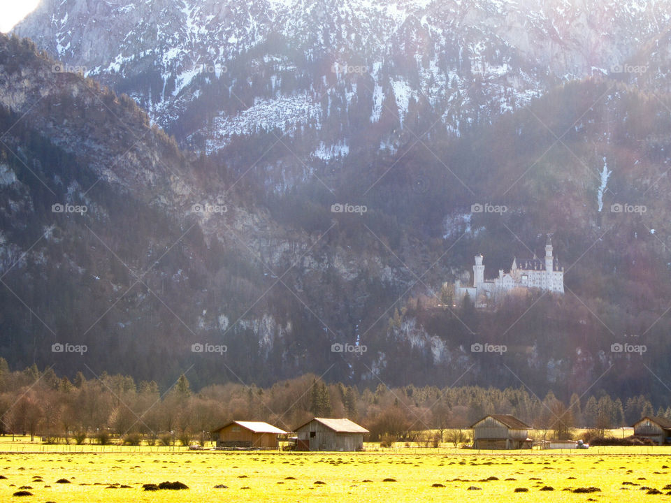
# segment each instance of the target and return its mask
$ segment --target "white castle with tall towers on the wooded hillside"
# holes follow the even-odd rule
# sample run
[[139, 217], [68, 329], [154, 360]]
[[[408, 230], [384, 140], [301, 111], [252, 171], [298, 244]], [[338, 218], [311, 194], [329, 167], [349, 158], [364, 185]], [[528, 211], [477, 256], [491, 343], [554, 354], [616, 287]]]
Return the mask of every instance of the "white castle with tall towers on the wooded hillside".
[[498, 270], [498, 277], [484, 279], [482, 254], [475, 256], [473, 265], [473, 286], [461, 286], [459, 279], [454, 282], [454, 297], [462, 300], [466, 293], [475, 302], [475, 307], [487, 307], [496, 303], [496, 298], [516, 289], [540, 289], [554, 293], [564, 293], [564, 268], [552, 256], [552, 242], [548, 236], [545, 245], [545, 259], [536, 258], [517, 264], [512, 259], [510, 272]]

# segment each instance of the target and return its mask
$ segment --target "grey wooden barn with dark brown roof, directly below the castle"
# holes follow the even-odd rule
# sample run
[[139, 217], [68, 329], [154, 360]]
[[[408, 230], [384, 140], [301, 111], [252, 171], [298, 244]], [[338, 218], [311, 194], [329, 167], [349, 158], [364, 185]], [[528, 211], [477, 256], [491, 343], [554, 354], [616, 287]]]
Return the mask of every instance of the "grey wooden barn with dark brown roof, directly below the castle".
[[470, 427], [473, 449], [531, 449], [529, 428], [510, 414], [489, 414]]

